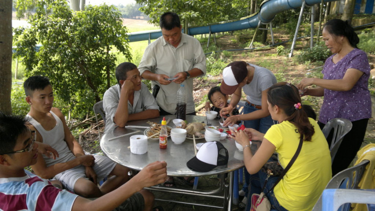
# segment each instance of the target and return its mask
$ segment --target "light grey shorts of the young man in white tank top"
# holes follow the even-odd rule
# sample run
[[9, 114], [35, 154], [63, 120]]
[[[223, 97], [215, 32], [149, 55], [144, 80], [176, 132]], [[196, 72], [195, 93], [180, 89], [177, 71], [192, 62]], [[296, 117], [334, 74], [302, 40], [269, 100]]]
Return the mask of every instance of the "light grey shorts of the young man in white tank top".
[[[113, 170], [114, 166], [117, 164], [113, 162], [106, 156], [93, 155], [95, 158], [95, 165], [93, 170], [97, 175], [97, 181], [103, 180], [109, 173]], [[79, 178], [86, 178], [85, 166], [78, 165], [74, 168], [62, 171], [61, 173], [55, 175], [53, 179], [59, 180], [65, 189], [74, 192], [74, 184]]]

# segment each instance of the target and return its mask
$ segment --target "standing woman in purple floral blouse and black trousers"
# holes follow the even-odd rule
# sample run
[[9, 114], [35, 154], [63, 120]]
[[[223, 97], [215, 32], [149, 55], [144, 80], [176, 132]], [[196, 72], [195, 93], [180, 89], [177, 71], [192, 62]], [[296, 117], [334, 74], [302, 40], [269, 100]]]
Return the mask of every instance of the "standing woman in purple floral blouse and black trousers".
[[[371, 98], [368, 91], [370, 66], [365, 52], [357, 48], [359, 38], [347, 21], [328, 21], [323, 28], [323, 40], [332, 52], [324, 64], [323, 79], [304, 78], [298, 84], [302, 95], [324, 96], [318, 125], [333, 118], [348, 119], [352, 128], [341, 142], [332, 163], [332, 175], [348, 167], [359, 150], [371, 117]], [[316, 85], [316, 88], [306, 88]], [[327, 138], [330, 145], [331, 137]]]

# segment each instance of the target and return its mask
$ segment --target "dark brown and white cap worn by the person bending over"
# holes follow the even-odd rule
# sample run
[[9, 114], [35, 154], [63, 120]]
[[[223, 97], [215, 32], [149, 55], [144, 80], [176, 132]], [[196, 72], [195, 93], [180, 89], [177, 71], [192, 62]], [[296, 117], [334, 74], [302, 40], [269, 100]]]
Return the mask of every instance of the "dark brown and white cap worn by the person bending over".
[[231, 95], [237, 89], [238, 84], [247, 76], [245, 62], [232, 62], [222, 70], [222, 82], [220, 91], [226, 95]]

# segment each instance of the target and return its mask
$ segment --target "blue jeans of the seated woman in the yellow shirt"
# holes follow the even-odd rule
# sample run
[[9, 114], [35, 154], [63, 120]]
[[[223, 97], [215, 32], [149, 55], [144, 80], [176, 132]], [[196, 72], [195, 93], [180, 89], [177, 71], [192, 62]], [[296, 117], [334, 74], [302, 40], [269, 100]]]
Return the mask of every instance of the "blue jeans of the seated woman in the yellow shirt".
[[[250, 207], [251, 207], [251, 195], [253, 193], [260, 194], [261, 188], [264, 186], [264, 182], [266, 178], [267, 178], [267, 174], [262, 171], [259, 171], [255, 174], [250, 175], [250, 181], [249, 181], [250, 186], [248, 189], [247, 204], [245, 208], [246, 211], [250, 210]], [[268, 182], [263, 189], [264, 193], [268, 192], [268, 190], [272, 188], [277, 178], [278, 176], [270, 176], [268, 178]], [[267, 196], [271, 204], [271, 209], [277, 209], [279, 211], [288, 211], [287, 209], [285, 209], [278, 203], [276, 196], [274, 195], [273, 189], [269, 191], [265, 196]]]

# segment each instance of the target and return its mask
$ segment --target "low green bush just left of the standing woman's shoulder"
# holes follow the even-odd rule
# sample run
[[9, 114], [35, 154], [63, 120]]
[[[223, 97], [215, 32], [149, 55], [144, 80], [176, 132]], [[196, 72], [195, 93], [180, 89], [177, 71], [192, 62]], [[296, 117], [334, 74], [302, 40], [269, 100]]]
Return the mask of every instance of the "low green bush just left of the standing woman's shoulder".
[[297, 55], [297, 61], [299, 63], [305, 63], [306, 61], [316, 62], [325, 61], [330, 55], [330, 51], [324, 46], [316, 45], [314, 47], [306, 48]]

